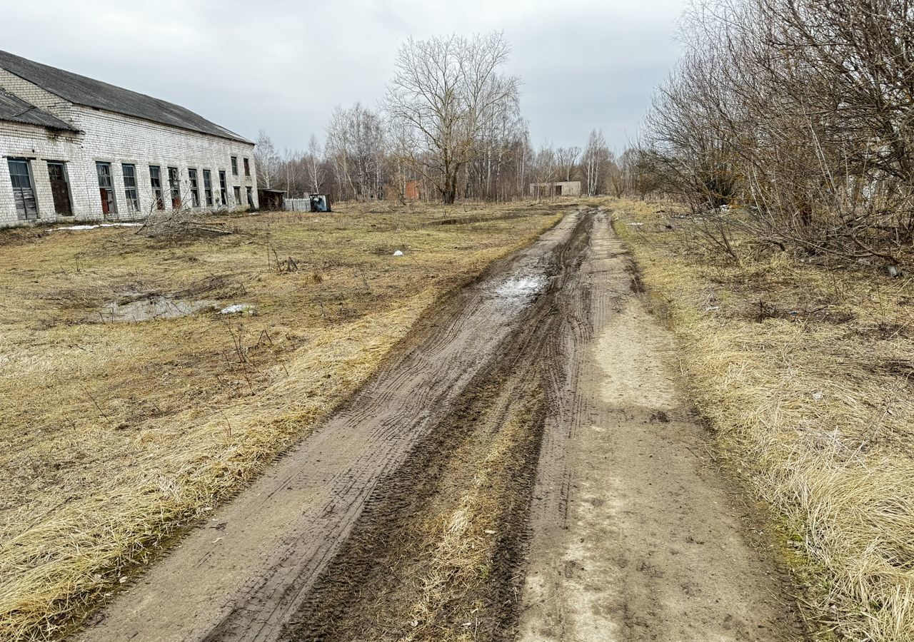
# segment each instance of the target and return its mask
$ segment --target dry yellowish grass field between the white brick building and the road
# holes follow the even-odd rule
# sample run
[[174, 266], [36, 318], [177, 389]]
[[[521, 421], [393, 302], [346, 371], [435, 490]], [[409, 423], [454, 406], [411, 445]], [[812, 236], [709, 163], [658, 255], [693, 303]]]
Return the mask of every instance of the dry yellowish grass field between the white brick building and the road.
[[[437, 298], [558, 220], [545, 204], [374, 208], [232, 216], [230, 236], [177, 242], [0, 233], [0, 639], [65, 632], [306, 435]], [[151, 294], [254, 313], [105, 311]]]

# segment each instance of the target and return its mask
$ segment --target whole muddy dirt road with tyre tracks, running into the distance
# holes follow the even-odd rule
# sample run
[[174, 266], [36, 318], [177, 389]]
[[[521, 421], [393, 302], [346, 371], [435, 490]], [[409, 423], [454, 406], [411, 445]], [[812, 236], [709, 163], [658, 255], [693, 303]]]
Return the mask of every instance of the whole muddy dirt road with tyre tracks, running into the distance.
[[672, 351], [608, 213], [570, 213], [78, 639], [800, 637]]

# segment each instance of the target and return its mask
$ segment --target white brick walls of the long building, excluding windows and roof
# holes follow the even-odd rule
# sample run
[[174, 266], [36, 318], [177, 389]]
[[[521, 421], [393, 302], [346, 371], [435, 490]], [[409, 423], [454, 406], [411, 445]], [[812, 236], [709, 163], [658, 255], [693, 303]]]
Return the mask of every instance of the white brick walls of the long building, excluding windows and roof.
[[[181, 197], [191, 203], [188, 169], [197, 170], [199, 200], [206, 207], [204, 170], [211, 172], [213, 209], [219, 203], [219, 172], [225, 172], [229, 208], [248, 207], [247, 191], [257, 207], [257, 179], [254, 146], [228, 138], [192, 132], [152, 121], [102, 111], [62, 100], [27, 80], [0, 68], [0, 88], [71, 124], [80, 132], [55, 132], [43, 127], [0, 121], [0, 227], [54, 221], [129, 220], [146, 216], [154, 206], [150, 165], [161, 168], [163, 201], [171, 207], [168, 167], [180, 175]], [[231, 157], [238, 158], [238, 174], [232, 174]], [[23, 220], [16, 212], [8, 158], [28, 159], [37, 200], [37, 219]], [[250, 176], [243, 159], [249, 159]], [[72, 216], [55, 212], [48, 178], [48, 161], [66, 163]], [[102, 215], [97, 162], [111, 163], [112, 185], [117, 213]], [[131, 211], [124, 192], [122, 165], [133, 164], [140, 208]], [[234, 187], [239, 187], [240, 203]]]

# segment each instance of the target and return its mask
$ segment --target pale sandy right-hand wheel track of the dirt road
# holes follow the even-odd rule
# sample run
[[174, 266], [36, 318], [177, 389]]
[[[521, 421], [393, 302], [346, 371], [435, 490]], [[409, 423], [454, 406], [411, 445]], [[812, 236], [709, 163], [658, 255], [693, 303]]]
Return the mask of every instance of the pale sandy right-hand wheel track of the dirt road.
[[647, 311], [608, 216], [579, 275], [531, 505], [522, 642], [802, 637], [739, 484], [677, 389], [672, 338]]

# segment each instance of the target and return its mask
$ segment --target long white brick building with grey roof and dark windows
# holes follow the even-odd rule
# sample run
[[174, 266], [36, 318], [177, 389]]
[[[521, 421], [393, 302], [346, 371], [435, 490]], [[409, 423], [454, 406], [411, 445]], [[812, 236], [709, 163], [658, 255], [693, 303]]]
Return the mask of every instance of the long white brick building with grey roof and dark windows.
[[0, 51], [0, 227], [257, 207], [254, 143], [165, 100]]

